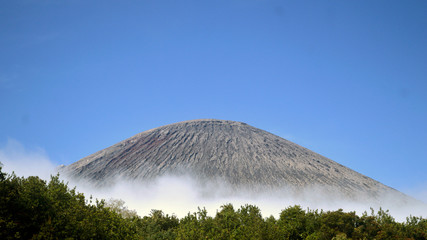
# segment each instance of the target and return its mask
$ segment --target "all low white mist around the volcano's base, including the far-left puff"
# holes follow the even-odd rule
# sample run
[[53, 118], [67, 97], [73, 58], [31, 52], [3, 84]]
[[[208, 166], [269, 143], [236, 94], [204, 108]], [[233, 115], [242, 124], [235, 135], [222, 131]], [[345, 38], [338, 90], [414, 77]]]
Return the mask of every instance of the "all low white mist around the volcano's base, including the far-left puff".
[[[48, 179], [50, 174], [56, 174], [55, 165], [43, 150], [27, 150], [14, 140], [9, 140], [6, 146], [0, 148], [0, 162], [4, 165], [4, 172], [15, 171], [18, 176], [37, 175]], [[65, 179], [65, 176], [61, 178]], [[390, 214], [398, 221], [405, 221], [409, 215], [427, 216], [426, 204], [402, 205], [393, 199], [394, 196], [385, 196], [381, 204], [354, 202], [340, 197], [339, 194], [326, 194], [321, 187], [307, 188], [295, 195], [287, 190], [262, 193], [236, 191], [218, 182], [201, 186], [188, 176], [163, 176], [149, 183], [121, 180], [108, 188], [97, 188], [71, 179], [68, 181], [70, 187], [77, 186], [77, 191], [83, 192], [87, 197], [92, 195], [106, 200], [122, 199], [129, 209], [136, 210], [140, 216], [148, 215], [152, 209], [158, 209], [183, 217], [189, 212], [197, 211], [198, 207], [205, 207], [210, 215], [214, 215], [221, 205], [227, 203], [232, 203], [236, 208], [245, 204], [256, 205], [264, 217], [278, 217], [282, 209], [296, 204], [304, 209], [342, 208], [344, 211], [356, 211], [358, 214], [364, 211], [370, 213], [370, 207], [378, 210], [381, 205], [383, 209], [389, 209]]]

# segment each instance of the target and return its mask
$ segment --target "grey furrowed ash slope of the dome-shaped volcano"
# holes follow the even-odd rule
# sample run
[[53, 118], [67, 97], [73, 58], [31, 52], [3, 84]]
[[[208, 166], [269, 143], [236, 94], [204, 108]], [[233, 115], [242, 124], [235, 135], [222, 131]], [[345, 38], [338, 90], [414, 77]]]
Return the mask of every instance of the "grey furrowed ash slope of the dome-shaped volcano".
[[245, 123], [203, 119], [139, 133], [96, 152], [63, 171], [95, 184], [117, 178], [150, 181], [191, 175], [235, 188], [303, 189], [321, 186], [350, 198], [404, 196], [295, 143]]

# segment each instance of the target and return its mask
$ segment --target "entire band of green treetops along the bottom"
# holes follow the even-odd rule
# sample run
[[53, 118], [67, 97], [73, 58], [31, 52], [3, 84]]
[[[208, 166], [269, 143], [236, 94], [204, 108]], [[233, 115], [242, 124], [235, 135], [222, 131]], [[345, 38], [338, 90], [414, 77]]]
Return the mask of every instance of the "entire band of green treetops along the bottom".
[[138, 216], [122, 200], [87, 199], [59, 175], [18, 177], [0, 165], [0, 239], [426, 239], [427, 220], [396, 222], [388, 211], [283, 209], [263, 217], [257, 206], [225, 204], [183, 218], [152, 210]]

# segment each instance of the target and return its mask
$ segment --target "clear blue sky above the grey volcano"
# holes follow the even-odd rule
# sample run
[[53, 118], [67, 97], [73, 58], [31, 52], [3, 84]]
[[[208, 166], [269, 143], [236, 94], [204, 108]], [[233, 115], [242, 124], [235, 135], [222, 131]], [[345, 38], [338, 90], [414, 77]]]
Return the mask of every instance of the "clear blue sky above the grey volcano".
[[0, 147], [70, 164], [198, 118], [426, 191], [427, 1], [0, 1]]

